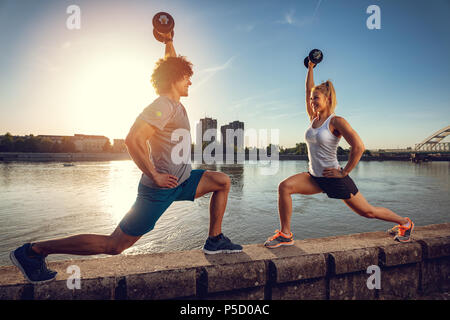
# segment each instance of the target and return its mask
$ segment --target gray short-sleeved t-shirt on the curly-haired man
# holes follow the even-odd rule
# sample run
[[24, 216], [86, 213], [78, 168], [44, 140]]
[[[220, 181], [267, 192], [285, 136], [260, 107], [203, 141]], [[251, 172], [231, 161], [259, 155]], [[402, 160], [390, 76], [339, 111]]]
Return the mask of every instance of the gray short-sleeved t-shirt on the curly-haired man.
[[[183, 183], [189, 178], [192, 170], [191, 127], [184, 106], [180, 102], [160, 96], [142, 111], [138, 119], [155, 128], [155, 134], [149, 139], [149, 143], [150, 158], [156, 170], [174, 175], [178, 178], [178, 184]], [[176, 149], [173, 150], [174, 148]], [[173, 158], [172, 151], [174, 151]], [[184, 160], [180, 161], [180, 157]], [[150, 188], [160, 188], [144, 173], [140, 182]]]

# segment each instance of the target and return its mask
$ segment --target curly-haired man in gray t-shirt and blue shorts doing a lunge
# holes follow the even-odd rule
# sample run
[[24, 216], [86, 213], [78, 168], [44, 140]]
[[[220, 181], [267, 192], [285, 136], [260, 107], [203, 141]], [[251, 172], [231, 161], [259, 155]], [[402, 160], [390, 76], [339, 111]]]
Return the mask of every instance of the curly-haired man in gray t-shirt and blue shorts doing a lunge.
[[[136, 202], [111, 235], [81, 234], [26, 243], [12, 251], [11, 261], [28, 281], [41, 283], [56, 277], [57, 272], [48, 269], [45, 262], [49, 254], [120, 254], [151, 231], [173, 201], [194, 201], [210, 192], [213, 194], [209, 237], [203, 251], [207, 254], [242, 251], [242, 246], [233, 244], [221, 231], [230, 178], [222, 172], [191, 169], [190, 125], [180, 97], [188, 96], [192, 64], [176, 56], [170, 35], [165, 36], [165, 44], [165, 58], [157, 62], [152, 74], [159, 97], [137, 117], [125, 140], [129, 154], [143, 173]], [[180, 132], [187, 133], [181, 135], [181, 142]], [[181, 162], [179, 143], [188, 146], [185, 161]]]

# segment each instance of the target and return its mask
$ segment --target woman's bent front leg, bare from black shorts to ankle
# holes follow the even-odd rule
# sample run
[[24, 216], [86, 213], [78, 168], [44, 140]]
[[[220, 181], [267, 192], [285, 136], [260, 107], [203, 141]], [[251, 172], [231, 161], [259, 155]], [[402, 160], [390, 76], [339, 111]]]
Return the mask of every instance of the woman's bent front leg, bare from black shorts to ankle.
[[316, 194], [322, 189], [309, 175], [303, 172], [282, 181], [278, 186], [278, 213], [280, 215], [280, 230], [284, 234], [291, 233], [292, 198], [294, 193]]

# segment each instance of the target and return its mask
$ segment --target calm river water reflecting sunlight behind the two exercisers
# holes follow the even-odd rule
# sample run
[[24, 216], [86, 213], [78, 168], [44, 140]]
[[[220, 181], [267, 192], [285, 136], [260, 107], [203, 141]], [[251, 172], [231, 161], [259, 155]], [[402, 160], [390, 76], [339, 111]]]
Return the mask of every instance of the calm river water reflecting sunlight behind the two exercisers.
[[[10, 265], [9, 252], [24, 242], [114, 231], [134, 203], [140, 170], [132, 161], [75, 164], [0, 163], [0, 265]], [[280, 161], [276, 166], [276, 174], [264, 175], [268, 168], [262, 163], [193, 165], [231, 177], [222, 230], [234, 242], [262, 243], [279, 228], [278, 184], [307, 171], [307, 162]], [[449, 168], [449, 162], [373, 161], [360, 162], [350, 175], [369, 203], [390, 208], [421, 226], [450, 221]], [[200, 249], [208, 235], [209, 198], [205, 195], [195, 202], [173, 203], [155, 229], [124, 254]], [[341, 200], [325, 194], [293, 196], [295, 239], [379, 231], [391, 226], [362, 218]], [[68, 258], [80, 256], [51, 255], [48, 260]]]

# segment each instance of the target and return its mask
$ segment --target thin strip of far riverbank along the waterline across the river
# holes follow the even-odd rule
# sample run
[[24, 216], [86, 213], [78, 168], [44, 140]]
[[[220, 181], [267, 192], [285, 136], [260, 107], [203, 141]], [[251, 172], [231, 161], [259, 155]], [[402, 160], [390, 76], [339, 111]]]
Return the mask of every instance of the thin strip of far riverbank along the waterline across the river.
[[[339, 161], [347, 161], [348, 155], [338, 155]], [[191, 160], [195, 160], [194, 154]], [[270, 159], [270, 158], [268, 158]], [[115, 161], [131, 160], [128, 153], [27, 153], [27, 152], [0, 152], [0, 162], [75, 162], [75, 161]], [[245, 157], [249, 160], [249, 156]], [[258, 158], [260, 160], [260, 158]], [[280, 154], [278, 160], [306, 160], [307, 155]], [[389, 155], [381, 154], [379, 156], [363, 156], [360, 161], [411, 161], [409, 154]], [[450, 161], [450, 155], [428, 155], [425, 161]]]

